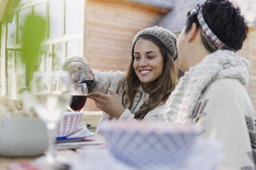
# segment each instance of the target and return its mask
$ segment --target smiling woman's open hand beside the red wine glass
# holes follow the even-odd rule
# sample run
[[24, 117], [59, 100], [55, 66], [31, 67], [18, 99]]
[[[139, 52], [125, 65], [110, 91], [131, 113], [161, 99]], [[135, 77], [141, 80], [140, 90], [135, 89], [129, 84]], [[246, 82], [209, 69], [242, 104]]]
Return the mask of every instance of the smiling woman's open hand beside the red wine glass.
[[109, 93], [111, 93], [112, 96], [102, 93], [89, 93], [87, 97], [93, 99], [100, 110], [103, 110], [112, 117], [119, 119], [121, 114], [125, 112], [125, 108], [122, 106], [122, 101], [116, 92], [109, 89]]

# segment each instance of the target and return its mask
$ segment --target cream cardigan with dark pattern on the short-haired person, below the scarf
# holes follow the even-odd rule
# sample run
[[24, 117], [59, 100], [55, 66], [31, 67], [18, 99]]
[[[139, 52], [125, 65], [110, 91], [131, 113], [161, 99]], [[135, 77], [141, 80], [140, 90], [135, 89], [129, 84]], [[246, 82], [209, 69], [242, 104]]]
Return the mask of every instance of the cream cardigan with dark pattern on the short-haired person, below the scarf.
[[204, 127], [202, 136], [222, 143], [222, 165], [231, 169], [253, 169], [250, 142], [256, 142], [256, 115], [241, 82], [231, 78], [212, 82], [202, 93], [192, 117], [194, 123]]

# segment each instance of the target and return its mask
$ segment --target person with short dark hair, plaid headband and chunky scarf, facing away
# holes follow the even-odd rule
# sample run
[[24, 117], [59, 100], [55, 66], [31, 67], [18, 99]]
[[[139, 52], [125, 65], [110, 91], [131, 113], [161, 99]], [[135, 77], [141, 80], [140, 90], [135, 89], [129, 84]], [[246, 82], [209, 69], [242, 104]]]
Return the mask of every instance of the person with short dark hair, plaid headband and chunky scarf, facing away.
[[247, 33], [248, 23], [230, 1], [193, 8], [177, 41], [185, 73], [163, 114], [166, 121], [202, 126], [202, 136], [222, 143], [222, 164], [231, 169], [254, 169], [256, 160], [256, 116], [244, 88], [249, 63], [236, 53]]

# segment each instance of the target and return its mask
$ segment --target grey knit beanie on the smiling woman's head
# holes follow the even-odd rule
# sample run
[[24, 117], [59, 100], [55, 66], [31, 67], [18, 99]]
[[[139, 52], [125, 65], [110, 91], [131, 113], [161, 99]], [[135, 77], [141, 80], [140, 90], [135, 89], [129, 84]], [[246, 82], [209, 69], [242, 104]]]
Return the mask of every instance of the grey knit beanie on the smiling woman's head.
[[171, 56], [173, 57], [173, 60], [177, 60], [178, 58], [178, 52], [176, 47], [177, 38], [175, 34], [170, 32], [168, 29], [164, 29], [163, 27], [148, 27], [146, 29], [142, 29], [140, 32], [134, 36], [133, 44], [136, 42], [138, 37], [142, 35], [151, 35], [155, 36], [160, 40], [166, 47], [169, 49]]

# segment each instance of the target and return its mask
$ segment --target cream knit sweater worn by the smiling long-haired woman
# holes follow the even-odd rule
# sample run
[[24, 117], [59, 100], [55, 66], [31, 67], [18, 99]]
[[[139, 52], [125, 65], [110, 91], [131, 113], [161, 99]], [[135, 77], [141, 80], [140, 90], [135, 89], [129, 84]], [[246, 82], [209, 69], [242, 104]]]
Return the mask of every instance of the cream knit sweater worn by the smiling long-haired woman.
[[[109, 72], [100, 72], [100, 71], [92, 71], [94, 74], [94, 78], [96, 81], [98, 81], [98, 88], [97, 92], [111, 95], [108, 91], [110, 88], [111, 90], [114, 90], [116, 94], [122, 99], [122, 83], [125, 80], [126, 74], [117, 71], [116, 73], [109, 71]], [[124, 106], [125, 112], [123, 112], [118, 119], [118, 121], [126, 121], [126, 120], [136, 120], [134, 119], [134, 112], [137, 112], [140, 109], [140, 106], [142, 106], [143, 102], [149, 98], [149, 94], [145, 93], [143, 90], [142, 86], [139, 88], [140, 93], [136, 93], [134, 97], [134, 103], [131, 106], [131, 109], [129, 110], [127, 105]], [[159, 105], [158, 107], [154, 108], [153, 110], [149, 111], [143, 121], [161, 121], [160, 119], [160, 113], [164, 109], [164, 104]], [[100, 133], [100, 124], [103, 121], [108, 121], [108, 120], [114, 120], [116, 119], [114, 117], [111, 117], [109, 114], [106, 112], [103, 112], [102, 117], [100, 118], [100, 122], [98, 124], [98, 128], [96, 130], [97, 133]]]

